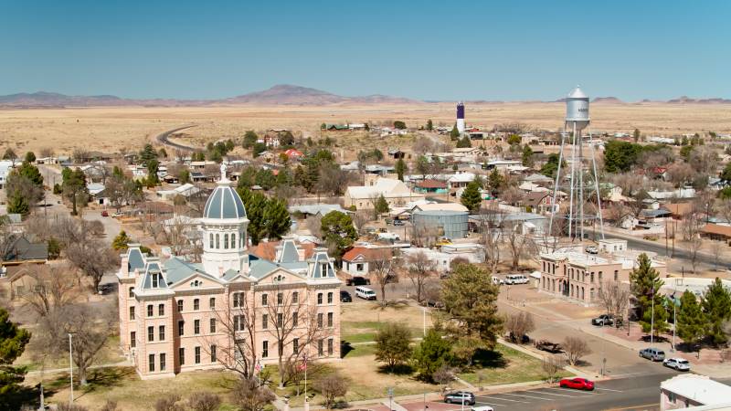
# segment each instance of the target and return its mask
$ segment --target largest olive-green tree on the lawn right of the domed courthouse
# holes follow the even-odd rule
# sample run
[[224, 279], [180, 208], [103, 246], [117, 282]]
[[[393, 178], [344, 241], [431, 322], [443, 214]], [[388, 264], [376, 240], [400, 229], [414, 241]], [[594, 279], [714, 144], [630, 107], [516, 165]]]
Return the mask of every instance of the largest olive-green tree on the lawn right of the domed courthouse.
[[473, 264], [459, 264], [442, 281], [442, 320], [451, 342], [471, 340], [472, 352], [494, 349], [497, 336], [503, 332], [503, 317], [497, 311], [498, 293], [490, 272]]

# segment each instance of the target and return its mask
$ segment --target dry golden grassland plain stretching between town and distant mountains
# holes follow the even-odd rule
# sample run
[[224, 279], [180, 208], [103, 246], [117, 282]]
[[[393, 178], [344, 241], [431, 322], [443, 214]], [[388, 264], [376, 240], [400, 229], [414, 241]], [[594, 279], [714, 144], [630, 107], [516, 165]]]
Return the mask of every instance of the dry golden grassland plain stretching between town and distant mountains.
[[[538, 128], [557, 129], [564, 116], [562, 103], [468, 103], [467, 121], [492, 129], [494, 124], [523, 122]], [[664, 103], [609, 104], [592, 106], [594, 131], [670, 135], [683, 132], [731, 131], [731, 105], [673, 105]], [[246, 130], [288, 128], [319, 136], [323, 122], [371, 124], [406, 121], [409, 127], [425, 124], [450, 125], [452, 103], [412, 105], [333, 106], [238, 106], [238, 107], [121, 107], [0, 111], [0, 146], [38, 151], [53, 147], [70, 153], [75, 147], [115, 153], [185, 124], [196, 124], [190, 136], [196, 142], [241, 136]], [[335, 139], [353, 138], [357, 133], [331, 133]], [[348, 137], [350, 135], [350, 137]], [[403, 140], [403, 138], [401, 138]], [[353, 139], [357, 142], [357, 137]], [[361, 142], [365, 140], [361, 139]], [[387, 145], [402, 143], [393, 138]], [[381, 146], [380, 148], [385, 148]]]

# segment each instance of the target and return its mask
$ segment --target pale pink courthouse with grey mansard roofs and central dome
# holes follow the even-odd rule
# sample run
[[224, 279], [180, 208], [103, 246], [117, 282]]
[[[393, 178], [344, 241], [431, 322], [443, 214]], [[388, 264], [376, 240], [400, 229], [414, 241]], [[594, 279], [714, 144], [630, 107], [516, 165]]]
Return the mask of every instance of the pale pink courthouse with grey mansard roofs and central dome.
[[291, 238], [249, 255], [249, 220], [225, 177], [201, 219], [201, 263], [122, 255], [120, 343], [143, 379], [203, 369], [340, 358], [340, 285], [332, 259]]

